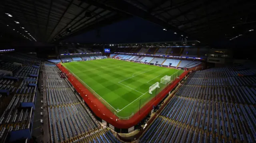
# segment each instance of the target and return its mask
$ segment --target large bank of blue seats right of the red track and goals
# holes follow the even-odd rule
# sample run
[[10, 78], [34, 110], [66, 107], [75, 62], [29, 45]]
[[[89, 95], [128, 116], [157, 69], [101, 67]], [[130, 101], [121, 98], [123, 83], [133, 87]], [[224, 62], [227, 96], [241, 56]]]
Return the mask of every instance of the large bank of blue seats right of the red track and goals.
[[192, 73], [140, 143], [255, 142], [256, 88], [250, 84], [256, 78], [238, 72], [225, 67]]

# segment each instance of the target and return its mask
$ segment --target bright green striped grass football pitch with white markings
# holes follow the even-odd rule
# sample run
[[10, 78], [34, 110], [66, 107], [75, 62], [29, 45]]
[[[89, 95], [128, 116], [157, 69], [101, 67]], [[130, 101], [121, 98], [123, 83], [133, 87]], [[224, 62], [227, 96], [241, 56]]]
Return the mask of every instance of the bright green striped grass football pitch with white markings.
[[[172, 75], [173, 80], [183, 72], [116, 59], [70, 62], [62, 65], [121, 119], [128, 119], [126, 117], [138, 112], [139, 107], [142, 108], [166, 87], [160, 83], [163, 76]], [[149, 94], [149, 87], [156, 82], [160, 83], [160, 88]]]

